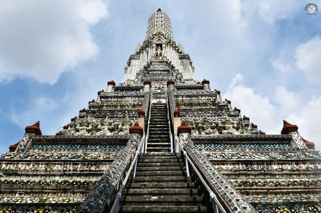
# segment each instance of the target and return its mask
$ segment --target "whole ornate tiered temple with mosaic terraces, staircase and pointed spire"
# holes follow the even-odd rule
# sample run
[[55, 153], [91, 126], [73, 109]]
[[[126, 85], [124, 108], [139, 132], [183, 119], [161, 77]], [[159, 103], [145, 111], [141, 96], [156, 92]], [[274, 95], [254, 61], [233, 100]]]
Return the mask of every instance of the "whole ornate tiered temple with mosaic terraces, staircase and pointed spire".
[[36, 122], [1, 155], [0, 213], [321, 212], [314, 144], [285, 120], [266, 135], [197, 81], [160, 9], [105, 90], [56, 135]]

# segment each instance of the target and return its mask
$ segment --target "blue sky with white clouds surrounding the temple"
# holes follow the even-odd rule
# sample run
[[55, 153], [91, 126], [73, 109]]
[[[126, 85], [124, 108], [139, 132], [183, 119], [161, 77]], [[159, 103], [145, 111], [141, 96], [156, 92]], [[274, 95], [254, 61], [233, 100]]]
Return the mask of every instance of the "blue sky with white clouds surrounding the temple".
[[[304, 1], [0, 1], [0, 152], [40, 121], [70, 122], [107, 81], [119, 83], [161, 8], [195, 66], [267, 134], [282, 121], [321, 149], [321, 10]], [[313, 3], [321, 7], [321, 1]]]

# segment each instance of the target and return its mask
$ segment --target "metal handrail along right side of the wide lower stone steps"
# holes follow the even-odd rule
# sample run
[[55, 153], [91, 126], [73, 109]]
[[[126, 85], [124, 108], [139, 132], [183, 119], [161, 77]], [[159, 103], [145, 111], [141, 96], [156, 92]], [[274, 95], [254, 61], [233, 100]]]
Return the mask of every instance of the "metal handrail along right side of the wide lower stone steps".
[[210, 194], [210, 198], [212, 199], [212, 205], [213, 205], [213, 209], [214, 212], [217, 213], [217, 207], [221, 210], [221, 212], [226, 213], [225, 209], [223, 208], [223, 206], [221, 205], [220, 201], [217, 199], [216, 195], [214, 194], [214, 192], [211, 190], [211, 188], [207, 185], [207, 183], [204, 181], [203, 177], [201, 176], [201, 174], [198, 172], [196, 166], [194, 165], [194, 163], [192, 162], [192, 160], [187, 156], [187, 152], [184, 150], [184, 145], [180, 144], [177, 141], [177, 138], [175, 137], [175, 143], [179, 144], [179, 147], [181, 149], [181, 151], [184, 154], [185, 157], [185, 165], [186, 165], [186, 172], [187, 172], [187, 176], [189, 177], [189, 169], [188, 169], [188, 164], [187, 161], [192, 165], [196, 175], [198, 176], [198, 178], [201, 180], [201, 182], [203, 183], [203, 185], [205, 186], [207, 192]]

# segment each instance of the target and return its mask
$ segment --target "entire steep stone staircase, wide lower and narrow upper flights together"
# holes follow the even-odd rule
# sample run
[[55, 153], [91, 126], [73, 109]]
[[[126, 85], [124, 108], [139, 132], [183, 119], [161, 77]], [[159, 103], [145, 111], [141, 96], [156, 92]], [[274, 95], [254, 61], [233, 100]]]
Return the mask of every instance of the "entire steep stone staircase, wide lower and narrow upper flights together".
[[179, 153], [170, 153], [164, 104], [153, 104], [147, 152], [127, 181], [119, 212], [207, 212], [196, 184], [187, 177]]

